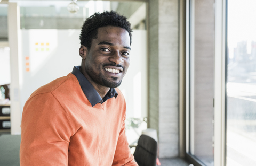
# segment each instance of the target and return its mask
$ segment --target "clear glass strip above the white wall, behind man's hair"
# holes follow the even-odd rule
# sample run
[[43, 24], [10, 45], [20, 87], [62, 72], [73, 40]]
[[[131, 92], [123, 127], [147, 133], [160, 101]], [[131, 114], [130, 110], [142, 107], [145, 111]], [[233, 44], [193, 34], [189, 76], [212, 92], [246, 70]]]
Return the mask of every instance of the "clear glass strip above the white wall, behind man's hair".
[[[72, 1], [17, 1], [21, 29], [81, 29], [95, 12], [116, 11], [126, 16], [132, 29], [146, 30], [146, 3], [140, 1], [76, 1], [79, 10], [70, 13]], [[141, 24], [145, 24], [144, 26]]]

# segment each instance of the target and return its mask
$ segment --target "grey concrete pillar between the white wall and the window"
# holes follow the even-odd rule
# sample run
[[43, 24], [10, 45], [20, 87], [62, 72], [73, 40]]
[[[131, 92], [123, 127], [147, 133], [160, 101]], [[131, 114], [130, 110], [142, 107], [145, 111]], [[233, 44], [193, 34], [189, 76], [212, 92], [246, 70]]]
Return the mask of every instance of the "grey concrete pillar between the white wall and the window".
[[179, 155], [179, 1], [149, 1], [149, 127], [159, 156]]

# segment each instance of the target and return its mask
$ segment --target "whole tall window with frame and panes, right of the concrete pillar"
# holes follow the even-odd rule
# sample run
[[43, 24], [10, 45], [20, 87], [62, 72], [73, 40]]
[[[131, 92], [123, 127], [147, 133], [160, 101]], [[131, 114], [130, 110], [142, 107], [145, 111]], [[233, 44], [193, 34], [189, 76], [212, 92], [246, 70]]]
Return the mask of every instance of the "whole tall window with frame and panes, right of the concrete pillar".
[[[211, 13], [210, 1], [191, 0], [187, 2], [189, 5], [189, 15], [187, 15], [187, 24], [189, 24], [187, 30], [189, 34], [187, 35], [189, 41], [189, 47], [187, 47], [187, 80], [189, 80], [187, 81], [187, 99], [189, 99], [187, 103], [189, 106], [187, 107], [187, 156], [194, 161], [194, 165], [256, 165], [256, 24], [254, 21], [256, 2], [253, 0], [215, 0], [215, 2], [212, 1], [215, 11], [212, 16], [209, 15]], [[200, 7], [197, 7], [198, 5]], [[198, 19], [198, 17], [205, 18], [205, 20]], [[215, 26], [211, 27], [213, 20], [215, 20]], [[200, 24], [201, 27], [198, 26]], [[197, 32], [198, 29], [199, 32]], [[207, 36], [205, 32], [213, 35]], [[201, 43], [200, 47], [197, 47], [198, 43]], [[211, 44], [215, 49], [205, 47]], [[203, 61], [197, 63], [202, 53], [205, 53], [205, 57], [206, 54], [211, 54], [207, 51], [203, 52], [204, 48], [208, 48], [209, 52], [215, 54], [212, 62], [204, 59], [204, 62], [208, 64], [205, 71], [211, 68], [211, 63], [215, 64], [213, 80], [209, 72], [207, 75], [201, 74], [201, 77], [196, 74], [204, 73], [203, 69], [198, 70], [197, 66], [201, 67], [205, 64]], [[199, 81], [197, 81], [198, 78]], [[210, 144], [210, 142], [205, 143], [207, 138], [204, 138], [202, 142], [197, 142], [198, 137], [196, 137], [197, 134], [202, 134], [196, 133], [196, 129], [211, 129], [206, 127], [210, 118], [204, 117], [205, 124], [201, 123], [201, 126], [196, 124], [198, 120], [201, 120], [197, 119], [196, 114], [199, 113], [202, 116], [202, 112], [196, 107], [197, 102], [205, 101], [206, 106], [206, 100], [208, 98], [210, 100], [208, 94], [203, 94], [204, 99], [199, 98], [202, 94], [197, 95], [200, 94], [199, 90], [204, 88], [201, 82], [205, 84], [208, 82], [209, 90], [213, 87], [215, 98], [212, 114], [215, 121], [213, 121], [215, 132], [212, 142], [214, 153], [211, 156], [208, 155], [209, 158], [205, 158], [207, 155], [202, 156], [196, 152], [197, 143], [202, 146], [201, 150], [205, 150], [205, 147]], [[198, 85], [201, 86], [196, 88]], [[208, 106], [210, 109], [210, 104]], [[210, 117], [210, 114], [207, 116]], [[205, 135], [209, 136], [207, 132]]]

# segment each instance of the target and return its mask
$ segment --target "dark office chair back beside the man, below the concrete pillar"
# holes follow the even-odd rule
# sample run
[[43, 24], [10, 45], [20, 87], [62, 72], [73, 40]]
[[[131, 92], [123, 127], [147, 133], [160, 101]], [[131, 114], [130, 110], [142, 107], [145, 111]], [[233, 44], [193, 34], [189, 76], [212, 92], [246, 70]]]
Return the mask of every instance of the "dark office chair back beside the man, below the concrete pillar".
[[139, 166], [156, 166], [157, 142], [142, 134], [133, 155]]

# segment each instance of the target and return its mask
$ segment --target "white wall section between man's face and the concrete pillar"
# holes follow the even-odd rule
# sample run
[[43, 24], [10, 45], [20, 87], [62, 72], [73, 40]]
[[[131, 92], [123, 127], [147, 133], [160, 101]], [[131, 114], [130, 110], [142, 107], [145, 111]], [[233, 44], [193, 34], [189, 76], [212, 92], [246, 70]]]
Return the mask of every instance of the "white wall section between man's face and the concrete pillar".
[[126, 117], [147, 117], [147, 32], [133, 30], [130, 67], [119, 89], [126, 100]]

